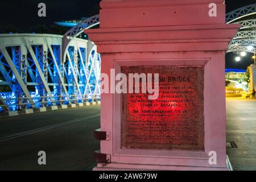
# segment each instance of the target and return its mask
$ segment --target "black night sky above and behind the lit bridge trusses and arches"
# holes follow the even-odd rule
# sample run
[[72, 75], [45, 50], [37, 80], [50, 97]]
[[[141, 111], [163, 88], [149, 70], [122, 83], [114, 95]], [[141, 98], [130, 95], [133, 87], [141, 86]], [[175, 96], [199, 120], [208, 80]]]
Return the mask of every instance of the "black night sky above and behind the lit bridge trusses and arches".
[[[27, 30], [38, 24], [49, 26], [61, 20], [81, 19], [98, 14], [101, 0], [1, 0], [0, 28], [11, 25]], [[182, 1], [182, 0], [181, 0]], [[193, 1], [193, 0], [191, 0]], [[38, 17], [38, 4], [46, 3], [47, 17]], [[251, 5], [255, 0], [226, 0], [226, 12], [239, 7]], [[252, 63], [251, 55], [247, 54], [242, 61], [234, 61], [236, 55], [226, 55], [226, 68], [246, 69]]]

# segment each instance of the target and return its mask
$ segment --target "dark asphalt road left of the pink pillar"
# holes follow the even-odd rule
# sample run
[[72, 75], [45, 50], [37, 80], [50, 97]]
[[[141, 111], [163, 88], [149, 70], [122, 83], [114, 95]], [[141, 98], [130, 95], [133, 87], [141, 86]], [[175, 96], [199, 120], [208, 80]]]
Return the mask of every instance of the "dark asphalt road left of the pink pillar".
[[[100, 106], [0, 118], [0, 170], [91, 170]], [[38, 152], [46, 152], [39, 166]]]

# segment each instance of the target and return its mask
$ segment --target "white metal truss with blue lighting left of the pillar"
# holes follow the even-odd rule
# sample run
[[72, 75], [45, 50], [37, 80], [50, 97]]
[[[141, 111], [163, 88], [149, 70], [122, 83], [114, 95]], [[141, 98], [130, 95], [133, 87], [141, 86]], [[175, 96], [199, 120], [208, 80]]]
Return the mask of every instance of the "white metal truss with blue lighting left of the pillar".
[[63, 36], [0, 35], [0, 92], [3, 110], [100, 99], [101, 57], [89, 40], [73, 38], [62, 59]]

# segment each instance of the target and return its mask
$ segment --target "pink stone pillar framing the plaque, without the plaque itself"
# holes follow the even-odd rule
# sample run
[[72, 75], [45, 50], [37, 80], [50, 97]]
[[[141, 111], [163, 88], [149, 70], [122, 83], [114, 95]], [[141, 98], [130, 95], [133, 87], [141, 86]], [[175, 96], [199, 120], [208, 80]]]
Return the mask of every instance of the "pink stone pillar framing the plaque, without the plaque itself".
[[[204, 68], [204, 150], [122, 148], [122, 99], [104, 93], [94, 170], [226, 170], [225, 51], [240, 25], [225, 24], [224, 1], [103, 0], [101, 8], [100, 28], [85, 33], [102, 55], [102, 73], [127, 66]], [[216, 164], [209, 163], [210, 151]]]

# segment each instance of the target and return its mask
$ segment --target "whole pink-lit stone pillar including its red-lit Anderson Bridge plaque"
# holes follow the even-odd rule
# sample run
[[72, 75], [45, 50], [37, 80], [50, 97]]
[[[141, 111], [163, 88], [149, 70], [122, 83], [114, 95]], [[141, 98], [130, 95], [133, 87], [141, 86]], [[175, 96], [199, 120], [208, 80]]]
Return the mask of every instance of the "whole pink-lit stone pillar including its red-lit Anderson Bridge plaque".
[[100, 28], [85, 31], [101, 72], [159, 73], [162, 86], [154, 101], [101, 94], [94, 170], [226, 170], [225, 52], [240, 25], [225, 24], [224, 1], [103, 0], [101, 8]]

